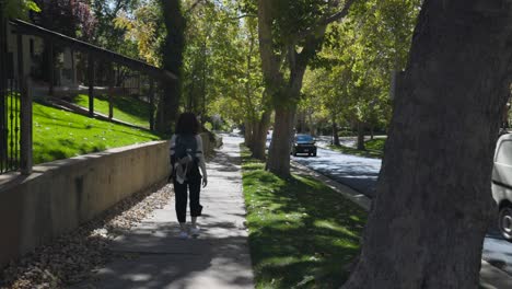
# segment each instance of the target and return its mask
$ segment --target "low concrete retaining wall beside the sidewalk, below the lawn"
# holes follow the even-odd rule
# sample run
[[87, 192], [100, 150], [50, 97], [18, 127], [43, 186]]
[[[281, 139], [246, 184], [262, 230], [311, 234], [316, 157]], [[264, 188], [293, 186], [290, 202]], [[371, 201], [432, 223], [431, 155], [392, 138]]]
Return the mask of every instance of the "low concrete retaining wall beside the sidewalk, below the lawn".
[[168, 142], [159, 141], [0, 175], [0, 267], [163, 182], [168, 169]]

